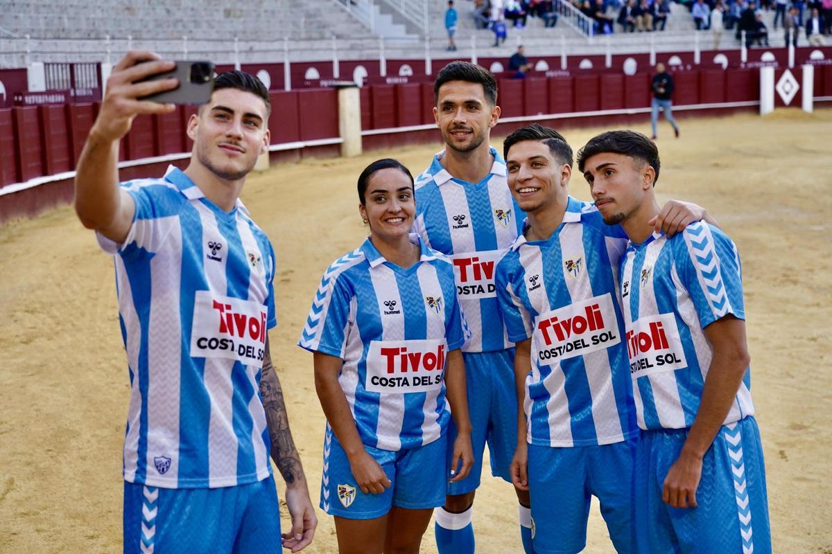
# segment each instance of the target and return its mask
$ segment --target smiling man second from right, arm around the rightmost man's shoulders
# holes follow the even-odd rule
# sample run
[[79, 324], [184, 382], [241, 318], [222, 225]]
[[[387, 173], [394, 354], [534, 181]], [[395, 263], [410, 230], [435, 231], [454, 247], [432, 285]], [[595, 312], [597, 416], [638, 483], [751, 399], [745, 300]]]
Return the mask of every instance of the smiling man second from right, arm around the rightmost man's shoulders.
[[[590, 495], [616, 551], [636, 552], [631, 475], [640, 431], [615, 285], [626, 235], [569, 196], [572, 148], [556, 130], [516, 130], [503, 153], [508, 188], [527, 215], [495, 284], [516, 346], [512, 477], [531, 493], [534, 552], [585, 547]], [[703, 215], [671, 201], [652, 223], [674, 233]]]

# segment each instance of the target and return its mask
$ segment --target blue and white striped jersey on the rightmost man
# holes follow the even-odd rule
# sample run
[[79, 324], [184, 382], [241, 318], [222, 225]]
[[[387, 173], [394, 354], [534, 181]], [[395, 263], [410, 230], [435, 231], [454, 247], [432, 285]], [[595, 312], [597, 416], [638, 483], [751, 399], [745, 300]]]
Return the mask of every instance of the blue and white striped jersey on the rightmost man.
[[[713, 355], [702, 330], [728, 314], [745, 319], [736, 247], [718, 228], [691, 223], [673, 238], [630, 243], [621, 275], [639, 427], [690, 427]], [[725, 424], [754, 414], [750, 388], [749, 369]]]

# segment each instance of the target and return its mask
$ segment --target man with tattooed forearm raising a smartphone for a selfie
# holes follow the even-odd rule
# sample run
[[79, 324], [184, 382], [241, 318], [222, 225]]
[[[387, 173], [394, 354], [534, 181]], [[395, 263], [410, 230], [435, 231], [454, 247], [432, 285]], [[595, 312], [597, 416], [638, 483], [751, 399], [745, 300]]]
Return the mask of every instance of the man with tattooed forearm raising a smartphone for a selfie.
[[120, 185], [132, 120], [175, 109], [146, 96], [176, 79], [142, 80], [174, 67], [147, 51], [119, 61], [75, 180], [78, 217], [114, 256], [130, 370], [124, 552], [281, 552], [269, 453], [292, 519], [282, 547], [298, 552], [317, 519], [270, 358], [275, 254], [239, 199], [269, 145], [268, 91], [218, 76], [188, 121], [185, 171]]

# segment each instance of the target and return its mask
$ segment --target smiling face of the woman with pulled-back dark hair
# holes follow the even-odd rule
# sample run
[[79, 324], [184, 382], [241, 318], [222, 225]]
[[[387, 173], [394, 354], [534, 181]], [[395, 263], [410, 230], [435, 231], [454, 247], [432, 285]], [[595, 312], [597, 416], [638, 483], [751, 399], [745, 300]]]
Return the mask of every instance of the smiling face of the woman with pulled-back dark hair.
[[367, 179], [361, 217], [369, 221], [374, 238], [385, 242], [407, 236], [414, 223], [416, 202], [413, 183], [398, 168], [379, 169]]

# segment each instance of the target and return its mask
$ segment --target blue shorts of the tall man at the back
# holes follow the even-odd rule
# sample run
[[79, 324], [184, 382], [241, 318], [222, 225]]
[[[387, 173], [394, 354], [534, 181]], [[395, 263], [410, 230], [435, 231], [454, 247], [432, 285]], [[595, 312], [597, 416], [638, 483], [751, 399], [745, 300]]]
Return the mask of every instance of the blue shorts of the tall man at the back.
[[[479, 487], [483, 450], [488, 442], [491, 474], [512, 482], [509, 467], [518, 444], [518, 397], [514, 388], [514, 349], [496, 352], [463, 352], [471, 418], [473, 468], [468, 477], [448, 482], [448, 494], [470, 493]], [[448, 466], [453, 456], [457, 428], [448, 425]]]

